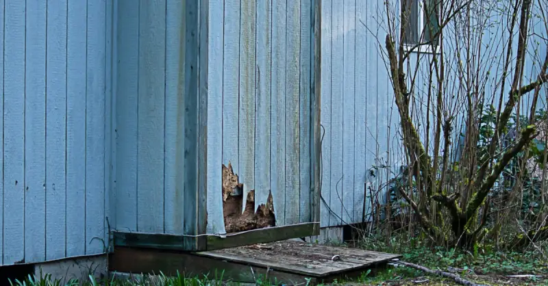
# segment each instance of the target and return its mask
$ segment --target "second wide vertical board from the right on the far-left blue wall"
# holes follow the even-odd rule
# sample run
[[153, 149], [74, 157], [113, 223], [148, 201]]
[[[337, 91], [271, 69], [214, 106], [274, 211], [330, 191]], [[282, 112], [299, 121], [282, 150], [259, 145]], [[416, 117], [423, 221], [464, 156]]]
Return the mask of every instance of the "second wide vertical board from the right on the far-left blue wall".
[[68, 1], [66, 31], [66, 255], [86, 253], [87, 6]]

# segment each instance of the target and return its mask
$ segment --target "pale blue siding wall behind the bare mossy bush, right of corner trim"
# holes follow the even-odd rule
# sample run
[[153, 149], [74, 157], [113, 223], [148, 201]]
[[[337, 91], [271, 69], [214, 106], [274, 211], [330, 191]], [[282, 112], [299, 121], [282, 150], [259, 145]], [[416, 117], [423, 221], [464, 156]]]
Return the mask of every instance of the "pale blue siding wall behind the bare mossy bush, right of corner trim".
[[[390, 3], [396, 8], [399, 1]], [[385, 60], [386, 51], [384, 38], [385, 25], [382, 23], [386, 7], [383, 1], [354, 1], [354, 0], [323, 0], [321, 11], [321, 125], [322, 129], [322, 188], [321, 188], [321, 226], [336, 226], [371, 221], [367, 216], [371, 211], [371, 196], [378, 196], [379, 203], [386, 202], [386, 182], [398, 174], [399, 167], [405, 165], [401, 134], [399, 133], [399, 114], [394, 102], [392, 86]], [[499, 3], [497, 5], [508, 5]], [[543, 17], [534, 3], [534, 15], [530, 24], [533, 36], [530, 38], [525, 60], [525, 77], [523, 84], [536, 80], [545, 55], [546, 29]], [[482, 57], [479, 57], [479, 73], [493, 75], [486, 81], [484, 91], [487, 101], [500, 94], [499, 79], [503, 68], [503, 55], [506, 54], [506, 25], [505, 11], [507, 8], [490, 11], [491, 20], [482, 35], [486, 47], [482, 48]], [[396, 10], [397, 11], [397, 10]], [[379, 25], [380, 23], [380, 25]], [[448, 27], [447, 29], [451, 29]], [[543, 40], [544, 39], [544, 40]], [[379, 41], [377, 41], [379, 40]], [[459, 39], [462, 41], [464, 39]], [[456, 70], [458, 55], [452, 53], [456, 49], [463, 51], [463, 42], [446, 36], [445, 58], [446, 70]], [[514, 35], [513, 48], [516, 49], [517, 35]], [[474, 54], [474, 56], [476, 56]], [[429, 134], [430, 155], [434, 149], [434, 118], [435, 98], [432, 98], [427, 110], [427, 70], [432, 55], [413, 53], [409, 62], [413, 75], [414, 67], [419, 65], [413, 90], [414, 101], [410, 109], [414, 115], [414, 122], [421, 138], [426, 140]], [[478, 59], [478, 57], [475, 57]], [[460, 60], [466, 62], [464, 52], [460, 53]], [[514, 63], [512, 62], [512, 65]], [[454, 75], [454, 72], [450, 72]], [[509, 75], [511, 78], [513, 74]], [[456, 93], [461, 90], [458, 78], [446, 79], [447, 90]], [[410, 82], [408, 83], [410, 84]], [[508, 96], [511, 80], [505, 87], [505, 100]], [[545, 102], [547, 89], [540, 91], [537, 110], [546, 109]], [[458, 96], [457, 96], [458, 97]], [[520, 114], [530, 112], [532, 93], [521, 99]], [[458, 159], [462, 150], [459, 144], [460, 133], [464, 131], [464, 107], [455, 105], [456, 99], [446, 104], [445, 108], [458, 109], [451, 133], [451, 154]], [[498, 104], [498, 103], [497, 103]], [[430, 127], [427, 129], [427, 116]], [[442, 132], [443, 138], [443, 132]], [[443, 140], [442, 140], [443, 144]], [[443, 146], [440, 147], [443, 152]], [[375, 168], [373, 168], [375, 166]], [[370, 170], [375, 175], [370, 176]], [[364, 188], [366, 190], [364, 190]], [[376, 198], [373, 198], [376, 199]], [[365, 201], [364, 201], [365, 200]], [[365, 206], [365, 209], [364, 209]]]

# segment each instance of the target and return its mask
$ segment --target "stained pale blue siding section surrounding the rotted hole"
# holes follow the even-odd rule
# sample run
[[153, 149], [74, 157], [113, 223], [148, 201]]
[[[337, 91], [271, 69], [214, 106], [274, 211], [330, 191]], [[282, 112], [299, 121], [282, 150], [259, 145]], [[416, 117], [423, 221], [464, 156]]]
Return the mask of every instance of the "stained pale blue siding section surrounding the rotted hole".
[[310, 0], [210, 1], [210, 233], [224, 229], [221, 164], [256, 206], [272, 192], [276, 225], [312, 219], [312, 12]]

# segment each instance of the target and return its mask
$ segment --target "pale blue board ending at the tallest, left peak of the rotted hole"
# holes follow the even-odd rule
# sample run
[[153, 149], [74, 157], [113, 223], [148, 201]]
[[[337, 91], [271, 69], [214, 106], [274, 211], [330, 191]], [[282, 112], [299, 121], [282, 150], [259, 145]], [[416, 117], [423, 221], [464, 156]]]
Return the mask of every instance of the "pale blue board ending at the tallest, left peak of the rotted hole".
[[[225, 1], [223, 34], [223, 164], [240, 174], [238, 104], [240, 85], [240, 1]], [[219, 166], [221, 168], [221, 166]]]

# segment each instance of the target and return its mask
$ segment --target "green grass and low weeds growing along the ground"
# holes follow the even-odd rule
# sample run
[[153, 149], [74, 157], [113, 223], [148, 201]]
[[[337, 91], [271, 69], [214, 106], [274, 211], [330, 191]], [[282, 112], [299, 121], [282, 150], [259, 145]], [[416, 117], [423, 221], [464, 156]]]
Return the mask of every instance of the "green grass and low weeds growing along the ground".
[[[345, 246], [340, 245], [339, 246]], [[484, 246], [475, 248], [472, 251], [455, 250], [452, 248], [432, 248], [421, 242], [420, 239], [404, 239], [403, 237], [393, 237], [386, 242], [385, 239], [375, 239], [370, 237], [362, 239], [356, 247], [366, 250], [398, 253], [403, 255], [401, 260], [410, 263], [423, 265], [432, 270], [446, 271], [448, 268], [457, 268], [460, 276], [468, 278], [477, 283], [488, 285], [500, 285], [501, 279], [512, 281], [514, 285], [548, 285], [548, 260], [540, 251], [529, 252], [501, 252], [493, 247]], [[545, 252], [547, 253], [547, 252]], [[510, 274], [536, 274], [544, 278], [506, 278]], [[205, 276], [184, 276], [177, 274], [173, 277], [165, 276], [160, 273], [157, 276], [145, 276], [138, 281], [121, 279], [103, 279], [95, 281], [95, 278], [89, 276], [86, 281], [71, 280], [66, 285], [240, 285], [230, 281], [224, 281], [223, 274], [210, 274]], [[353, 281], [335, 281], [334, 285], [414, 285], [413, 281], [428, 280], [427, 285], [456, 285], [450, 279], [437, 276], [429, 276], [419, 270], [406, 268], [403, 266], [393, 267], [388, 265], [384, 270], [378, 270], [376, 273], [364, 272], [359, 278]], [[48, 274], [40, 277], [29, 276], [25, 281], [12, 281], [13, 286], [23, 285], [44, 285], [44, 286], [62, 286], [59, 280], [53, 280]], [[256, 285], [269, 285], [265, 279], [256, 277]], [[424, 284], [423, 284], [424, 285]], [[306, 285], [302, 285], [306, 286]]]

